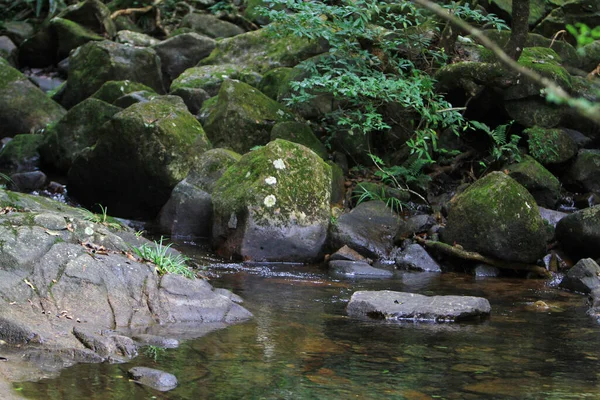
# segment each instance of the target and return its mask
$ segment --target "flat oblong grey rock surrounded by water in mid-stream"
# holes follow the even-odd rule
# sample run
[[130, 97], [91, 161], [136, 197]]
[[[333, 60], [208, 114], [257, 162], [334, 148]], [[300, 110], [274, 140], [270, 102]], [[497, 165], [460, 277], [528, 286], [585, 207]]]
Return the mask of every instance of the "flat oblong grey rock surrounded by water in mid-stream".
[[381, 290], [355, 292], [346, 312], [352, 317], [455, 322], [486, 316], [490, 309], [490, 303], [482, 297], [424, 296]]

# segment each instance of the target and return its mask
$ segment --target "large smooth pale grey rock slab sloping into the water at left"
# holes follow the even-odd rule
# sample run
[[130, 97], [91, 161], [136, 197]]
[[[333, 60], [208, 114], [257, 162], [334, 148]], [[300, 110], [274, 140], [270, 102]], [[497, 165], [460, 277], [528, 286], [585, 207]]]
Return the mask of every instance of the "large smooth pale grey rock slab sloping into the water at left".
[[151, 245], [129, 229], [4, 190], [0, 204], [10, 205], [0, 215], [0, 338], [10, 344], [88, 352], [88, 362], [101, 362], [135, 355], [133, 342], [115, 331], [189, 324], [200, 331], [251, 316], [205, 280], [161, 276], [128, 256], [131, 247]]

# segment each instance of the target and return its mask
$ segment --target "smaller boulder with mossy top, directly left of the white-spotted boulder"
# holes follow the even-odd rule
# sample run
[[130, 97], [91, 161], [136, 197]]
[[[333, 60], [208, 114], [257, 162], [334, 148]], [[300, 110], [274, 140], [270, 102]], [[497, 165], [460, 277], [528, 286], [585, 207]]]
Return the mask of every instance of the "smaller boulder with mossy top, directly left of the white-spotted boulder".
[[213, 189], [227, 168], [240, 158], [225, 149], [202, 154], [160, 210], [157, 223], [161, 233], [178, 238], [210, 238]]

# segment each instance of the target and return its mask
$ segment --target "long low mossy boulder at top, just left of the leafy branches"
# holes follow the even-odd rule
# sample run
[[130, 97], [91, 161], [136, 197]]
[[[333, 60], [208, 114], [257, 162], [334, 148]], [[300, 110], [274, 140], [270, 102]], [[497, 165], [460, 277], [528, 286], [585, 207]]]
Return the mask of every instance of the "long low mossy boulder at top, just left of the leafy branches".
[[315, 41], [292, 35], [276, 38], [259, 29], [220, 40], [200, 65], [238, 64], [263, 74], [276, 67], [293, 67], [326, 50]]

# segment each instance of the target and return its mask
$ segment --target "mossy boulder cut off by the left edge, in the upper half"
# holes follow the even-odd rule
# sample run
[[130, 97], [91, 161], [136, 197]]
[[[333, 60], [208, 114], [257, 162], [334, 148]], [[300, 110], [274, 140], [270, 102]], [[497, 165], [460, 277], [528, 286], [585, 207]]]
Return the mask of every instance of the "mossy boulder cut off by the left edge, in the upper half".
[[0, 138], [41, 129], [66, 111], [0, 59]]

